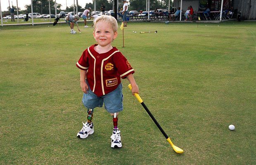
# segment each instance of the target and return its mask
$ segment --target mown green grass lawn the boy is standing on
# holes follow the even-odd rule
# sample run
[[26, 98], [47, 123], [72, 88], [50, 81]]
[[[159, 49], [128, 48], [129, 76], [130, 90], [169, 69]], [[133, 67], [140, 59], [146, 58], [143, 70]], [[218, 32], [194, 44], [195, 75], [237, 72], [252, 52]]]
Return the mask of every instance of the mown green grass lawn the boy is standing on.
[[132, 96], [128, 80], [119, 115], [123, 148], [110, 148], [113, 124], [104, 108], [95, 109], [95, 133], [76, 138], [86, 111], [75, 64], [95, 43], [92, 28], [79, 25], [76, 35], [64, 24], [0, 27], [0, 164], [256, 164], [255, 22], [134, 22], [125, 28], [125, 47], [119, 28], [112, 45], [183, 154]]

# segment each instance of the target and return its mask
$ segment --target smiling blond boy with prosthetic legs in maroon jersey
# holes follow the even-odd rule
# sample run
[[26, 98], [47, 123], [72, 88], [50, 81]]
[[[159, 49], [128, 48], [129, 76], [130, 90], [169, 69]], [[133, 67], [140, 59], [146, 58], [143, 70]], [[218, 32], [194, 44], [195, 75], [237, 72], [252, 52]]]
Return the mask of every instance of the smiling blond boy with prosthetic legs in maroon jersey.
[[82, 102], [88, 108], [87, 122], [77, 137], [86, 138], [93, 134], [92, 117], [96, 107], [102, 107], [113, 117], [114, 129], [111, 135], [111, 147], [122, 147], [120, 130], [117, 127], [118, 114], [123, 110], [121, 78], [127, 78], [132, 85], [132, 93], [139, 93], [134, 80], [134, 70], [128, 60], [111, 46], [117, 37], [117, 21], [112, 16], [102, 15], [94, 21], [93, 36], [97, 44], [88, 47], [76, 66], [80, 69]]

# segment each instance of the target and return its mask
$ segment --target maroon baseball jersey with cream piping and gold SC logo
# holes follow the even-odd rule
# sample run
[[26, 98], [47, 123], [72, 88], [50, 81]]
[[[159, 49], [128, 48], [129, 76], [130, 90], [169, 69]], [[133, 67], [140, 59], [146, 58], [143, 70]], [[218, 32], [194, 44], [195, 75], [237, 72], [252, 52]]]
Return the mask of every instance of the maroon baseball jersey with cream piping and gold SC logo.
[[121, 83], [121, 78], [126, 78], [135, 71], [116, 47], [99, 54], [94, 50], [95, 46], [97, 45], [92, 45], [83, 52], [76, 66], [87, 71], [88, 85], [100, 97], [115, 90]]

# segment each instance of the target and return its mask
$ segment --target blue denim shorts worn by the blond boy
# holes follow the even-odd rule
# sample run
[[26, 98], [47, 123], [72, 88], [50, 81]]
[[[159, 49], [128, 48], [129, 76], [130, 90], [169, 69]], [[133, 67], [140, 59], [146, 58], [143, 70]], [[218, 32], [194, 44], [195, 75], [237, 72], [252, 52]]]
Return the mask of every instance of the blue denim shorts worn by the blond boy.
[[[88, 84], [88, 83], [87, 83]], [[123, 93], [122, 93], [123, 85], [119, 84], [118, 87], [105, 94], [101, 97], [98, 97], [89, 87], [88, 93], [83, 93], [83, 105], [86, 108], [94, 109], [96, 107], [102, 107], [103, 103], [105, 109], [109, 113], [116, 113], [123, 110]]]

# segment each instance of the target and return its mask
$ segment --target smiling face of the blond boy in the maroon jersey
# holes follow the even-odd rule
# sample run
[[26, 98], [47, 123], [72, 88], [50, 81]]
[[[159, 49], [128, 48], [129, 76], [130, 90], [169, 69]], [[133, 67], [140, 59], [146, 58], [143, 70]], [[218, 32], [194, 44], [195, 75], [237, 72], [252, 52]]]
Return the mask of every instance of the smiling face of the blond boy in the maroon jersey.
[[111, 42], [117, 37], [117, 32], [114, 32], [109, 22], [99, 21], [95, 26], [93, 36], [97, 44], [104, 47], [111, 45]]

